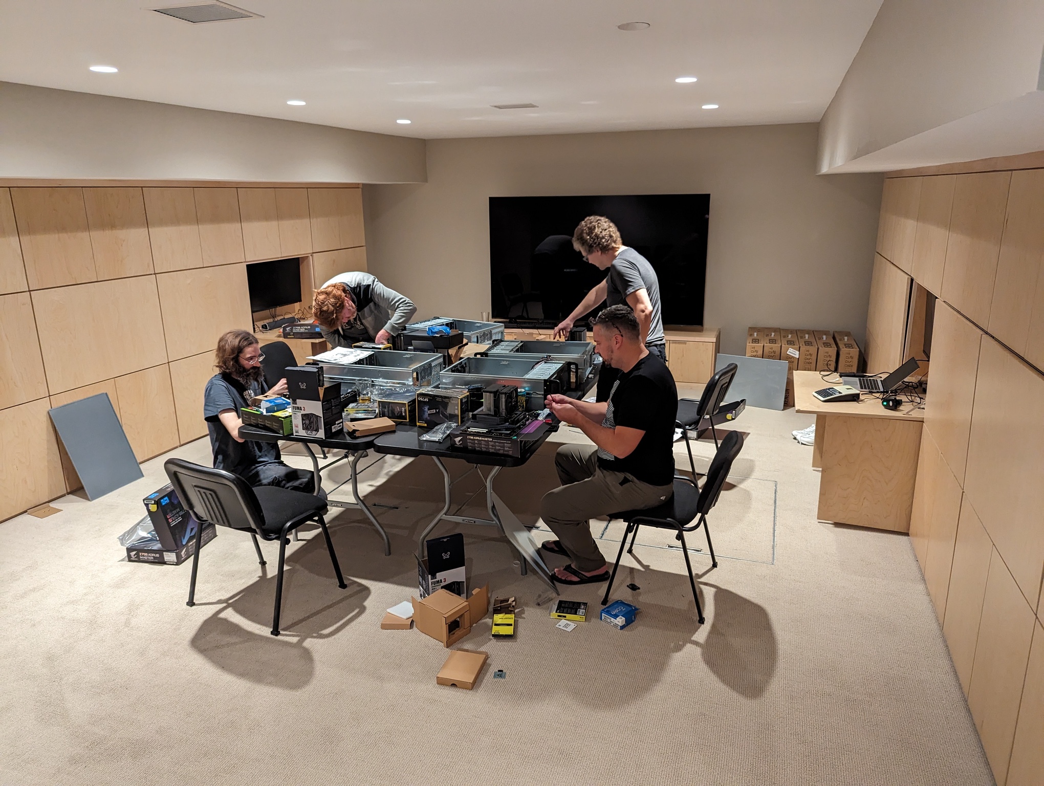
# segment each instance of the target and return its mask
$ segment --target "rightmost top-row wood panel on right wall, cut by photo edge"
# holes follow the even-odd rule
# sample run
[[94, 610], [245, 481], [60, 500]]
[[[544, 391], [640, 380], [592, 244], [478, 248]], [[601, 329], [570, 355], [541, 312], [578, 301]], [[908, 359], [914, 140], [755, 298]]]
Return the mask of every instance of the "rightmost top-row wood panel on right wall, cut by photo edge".
[[990, 333], [1026, 355], [1029, 326], [1044, 318], [1044, 169], [1012, 173]]

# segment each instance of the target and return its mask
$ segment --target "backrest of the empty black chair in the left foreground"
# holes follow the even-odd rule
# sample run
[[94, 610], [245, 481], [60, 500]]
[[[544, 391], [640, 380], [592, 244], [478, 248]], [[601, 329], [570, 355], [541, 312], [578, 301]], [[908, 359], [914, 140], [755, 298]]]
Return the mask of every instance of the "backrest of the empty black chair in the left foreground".
[[181, 458], [168, 458], [163, 469], [196, 521], [263, 537], [264, 514], [254, 490], [241, 477]]

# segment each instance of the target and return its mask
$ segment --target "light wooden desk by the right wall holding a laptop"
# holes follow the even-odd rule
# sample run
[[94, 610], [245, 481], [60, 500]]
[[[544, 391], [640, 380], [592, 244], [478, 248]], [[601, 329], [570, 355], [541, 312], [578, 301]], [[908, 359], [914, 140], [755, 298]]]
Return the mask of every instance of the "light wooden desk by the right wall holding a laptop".
[[793, 373], [794, 409], [815, 415], [818, 518], [909, 531], [924, 408], [904, 402], [892, 411], [869, 396], [827, 404], [812, 396], [824, 387], [818, 372]]

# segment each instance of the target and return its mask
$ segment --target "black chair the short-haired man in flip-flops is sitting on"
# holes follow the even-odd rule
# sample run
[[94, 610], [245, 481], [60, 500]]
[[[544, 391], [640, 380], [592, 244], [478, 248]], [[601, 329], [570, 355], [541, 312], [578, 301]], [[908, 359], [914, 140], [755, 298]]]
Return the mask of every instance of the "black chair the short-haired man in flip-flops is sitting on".
[[[623, 556], [623, 547], [627, 543], [627, 535], [631, 535], [631, 546], [627, 553], [634, 553], [635, 539], [638, 538], [638, 528], [643, 524], [661, 529], [677, 529], [678, 540], [682, 542], [682, 553], [685, 555], [685, 567], [689, 571], [689, 583], [692, 586], [692, 597], [696, 601], [696, 617], [699, 623], [704, 622], [704, 610], [699, 605], [699, 596], [696, 594], [696, 579], [692, 575], [692, 563], [689, 561], [689, 547], [685, 544], [685, 533], [704, 528], [707, 535], [707, 548], [711, 552], [711, 565], [717, 567], [717, 557], [714, 556], [714, 546], [711, 544], [711, 532], [707, 528], [707, 514], [717, 503], [721, 494], [721, 486], [729, 476], [732, 462], [736, 460], [739, 451], [743, 449], [743, 437], [738, 431], [730, 431], [721, 440], [707, 470], [707, 478], [704, 480], [704, 487], [696, 487], [694, 480], [686, 477], [674, 477], [674, 496], [656, 507], [648, 507], [644, 510], [626, 510], [620, 514], [613, 514], [611, 519], [623, 519], [627, 523], [627, 528], [620, 540], [620, 551], [613, 563], [613, 572], [606, 586], [606, 596], [601, 599], [601, 604], [609, 602], [609, 593], [613, 589], [613, 581], [616, 580], [616, 569], [620, 567], [620, 559]], [[697, 518], [698, 517], [698, 518]], [[695, 521], [695, 524], [692, 522]]]

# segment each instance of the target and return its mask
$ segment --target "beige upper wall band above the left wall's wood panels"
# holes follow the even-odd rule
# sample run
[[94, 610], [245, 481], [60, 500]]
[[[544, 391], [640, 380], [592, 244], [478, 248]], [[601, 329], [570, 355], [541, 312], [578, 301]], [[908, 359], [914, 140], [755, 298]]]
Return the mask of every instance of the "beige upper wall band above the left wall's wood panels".
[[424, 140], [0, 82], [0, 177], [418, 183]]

